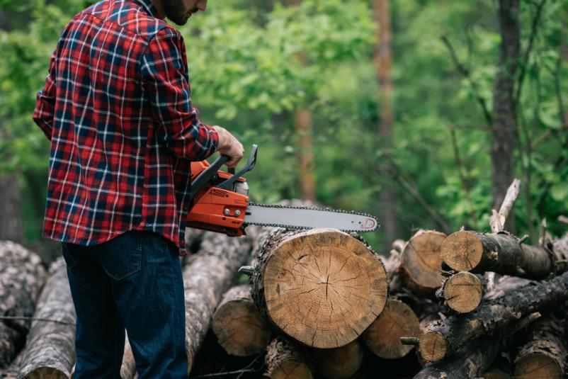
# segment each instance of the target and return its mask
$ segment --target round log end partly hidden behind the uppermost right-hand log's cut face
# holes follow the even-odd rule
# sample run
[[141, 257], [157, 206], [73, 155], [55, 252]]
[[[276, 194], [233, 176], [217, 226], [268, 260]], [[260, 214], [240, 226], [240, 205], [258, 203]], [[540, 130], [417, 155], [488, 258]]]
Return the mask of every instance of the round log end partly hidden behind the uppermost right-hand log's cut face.
[[[402, 268], [412, 287], [434, 290], [440, 287], [442, 258], [440, 249], [445, 234], [435, 230], [421, 230], [404, 247]], [[412, 288], [418, 289], [418, 288]], [[432, 291], [433, 293], [433, 291]]]

